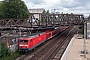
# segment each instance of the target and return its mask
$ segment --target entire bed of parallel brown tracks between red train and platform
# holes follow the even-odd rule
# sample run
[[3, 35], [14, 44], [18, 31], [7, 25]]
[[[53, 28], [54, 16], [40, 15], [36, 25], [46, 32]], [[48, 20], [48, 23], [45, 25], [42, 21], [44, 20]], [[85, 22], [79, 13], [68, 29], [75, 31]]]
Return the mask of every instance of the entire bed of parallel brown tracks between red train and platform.
[[69, 27], [44, 46], [40, 46], [36, 51], [26, 54], [18, 60], [59, 60], [74, 33], [75, 27]]

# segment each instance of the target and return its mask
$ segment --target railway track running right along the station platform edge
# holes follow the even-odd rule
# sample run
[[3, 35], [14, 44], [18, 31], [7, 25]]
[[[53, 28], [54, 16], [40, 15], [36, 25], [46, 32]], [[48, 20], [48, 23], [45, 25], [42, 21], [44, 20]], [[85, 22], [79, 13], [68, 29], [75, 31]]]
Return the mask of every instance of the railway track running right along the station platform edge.
[[72, 29], [67, 34], [67, 36], [58, 43], [57, 47], [52, 48], [53, 50], [49, 51], [49, 53], [42, 60], [60, 60], [68, 43], [70, 42], [71, 38], [74, 35], [75, 30], [74, 31], [73, 30], [74, 29]]

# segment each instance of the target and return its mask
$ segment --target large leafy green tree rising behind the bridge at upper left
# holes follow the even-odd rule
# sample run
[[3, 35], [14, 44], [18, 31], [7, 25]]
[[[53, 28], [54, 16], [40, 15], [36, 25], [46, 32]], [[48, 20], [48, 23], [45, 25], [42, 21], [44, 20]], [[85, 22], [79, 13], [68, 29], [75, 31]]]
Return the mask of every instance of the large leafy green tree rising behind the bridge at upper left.
[[28, 18], [30, 13], [24, 1], [9, 0], [4, 1], [4, 14], [5, 18]]

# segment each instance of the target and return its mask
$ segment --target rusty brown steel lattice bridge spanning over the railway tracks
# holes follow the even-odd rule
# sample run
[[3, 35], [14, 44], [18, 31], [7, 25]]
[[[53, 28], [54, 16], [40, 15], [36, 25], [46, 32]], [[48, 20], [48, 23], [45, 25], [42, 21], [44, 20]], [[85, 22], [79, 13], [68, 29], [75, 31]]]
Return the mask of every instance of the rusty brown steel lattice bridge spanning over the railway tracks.
[[[35, 15], [38, 14], [38, 18]], [[16, 29], [19, 27], [35, 29], [47, 29], [58, 26], [83, 25], [83, 14], [40, 14], [31, 13], [27, 19], [0, 19], [0, 29]]]

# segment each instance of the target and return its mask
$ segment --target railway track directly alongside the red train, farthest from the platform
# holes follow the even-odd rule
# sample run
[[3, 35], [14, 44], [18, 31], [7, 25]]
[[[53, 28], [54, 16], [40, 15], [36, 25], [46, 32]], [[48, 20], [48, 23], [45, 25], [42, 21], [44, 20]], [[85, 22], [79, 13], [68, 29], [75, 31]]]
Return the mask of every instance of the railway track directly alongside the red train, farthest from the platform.
[[[57, 34], [56, 37], [53, 37], [49, 40], [47, 40], [46, 42], [42, 43], [42, 45], [39, 45], [37, 48], [29, 51], [28, 53], [24, 53], [21, 56], [17, 57], [15, 60], [22, 60], [22, 59], [26, 59], [27, 57], [32, 57], [34, 56], [37, 52], [41, 51], [44, 47], [48, 46], [51, 42], [53, 42], [58, 36], [61, 36], [63, 34], [63, 32], [60, 32], [60, 34]], [[27, 59], [26, 59], [27, 60]]]

